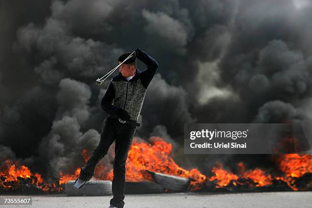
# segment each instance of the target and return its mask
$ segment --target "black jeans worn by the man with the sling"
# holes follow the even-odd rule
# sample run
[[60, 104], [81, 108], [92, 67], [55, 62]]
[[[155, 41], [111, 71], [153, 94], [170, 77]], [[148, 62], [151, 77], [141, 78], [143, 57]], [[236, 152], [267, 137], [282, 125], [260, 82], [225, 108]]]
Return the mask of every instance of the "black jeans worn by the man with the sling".
[[125, 164], [135, 132], [136, 126], [120, 123], [117, 119], [108, 116], [105, 120], [98, 146], [92, 152], [85, 167], [81, 168], [80, 171], [80, 179], [90, 180], [94, 175], [95, 166], [107, 154], [109, 147], [116, 140], [115, 159], [113, 163], [113, 198], [110, 204], [117, 207], [124, 206]]

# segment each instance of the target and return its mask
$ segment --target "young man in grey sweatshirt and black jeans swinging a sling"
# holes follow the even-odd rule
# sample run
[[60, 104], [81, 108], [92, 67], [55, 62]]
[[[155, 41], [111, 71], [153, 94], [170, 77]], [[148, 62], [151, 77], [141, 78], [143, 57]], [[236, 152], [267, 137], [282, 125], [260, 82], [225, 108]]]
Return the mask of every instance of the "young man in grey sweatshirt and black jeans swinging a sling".
[[[123, 62], [131, 53], [124, 53], [119, 58]], [[136, 68], [136, 58], [142, 61], [147, 69], [139, 71]], [[80, 189], [94, 175], [96, 164], [107, 154], [109, 147], [115, 141], [115, 159], [113, 163], [113, 198], [110, 207], [124, 206], [125, 164], [128, 151], [136, 132], [145, 93], [151, 82], [158, 63], [137, 48], [135, 56], [125, 61], [119, 68], [119, 74], [114, 76], [105, 95], [101, 100], [101, 108], [109, 116], [101, 133], [98, 146], [92, 152], [85, 167], [81, 168], [80, 176], [74, 183], [74, 188]]]

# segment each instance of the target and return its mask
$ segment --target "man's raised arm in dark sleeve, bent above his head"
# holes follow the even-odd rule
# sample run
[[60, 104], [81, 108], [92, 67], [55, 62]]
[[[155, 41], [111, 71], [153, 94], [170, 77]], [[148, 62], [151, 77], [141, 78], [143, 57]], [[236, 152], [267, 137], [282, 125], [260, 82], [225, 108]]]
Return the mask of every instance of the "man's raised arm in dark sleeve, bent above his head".
[[136, 57], [147, 66], [147, 69], [142, 71], [140, 75], [142, 85], [147, 89], [157, 71], [158, 63], [140, 48], [136, 49]]

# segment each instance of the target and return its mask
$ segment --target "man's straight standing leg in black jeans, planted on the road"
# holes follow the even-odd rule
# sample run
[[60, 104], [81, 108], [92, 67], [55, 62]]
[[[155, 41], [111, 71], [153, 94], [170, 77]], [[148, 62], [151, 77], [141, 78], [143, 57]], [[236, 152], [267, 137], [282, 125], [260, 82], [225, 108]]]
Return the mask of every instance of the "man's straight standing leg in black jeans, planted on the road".
[[115, 205], [117, 207], [124, 206], [125, 164], [135, 132], [136, 126], [122, 125], [116, 137], [115, 159], [113, 164], [114, 178], [112, 185], [114, 197], [111, 199], [110, 203], [111, 205]]

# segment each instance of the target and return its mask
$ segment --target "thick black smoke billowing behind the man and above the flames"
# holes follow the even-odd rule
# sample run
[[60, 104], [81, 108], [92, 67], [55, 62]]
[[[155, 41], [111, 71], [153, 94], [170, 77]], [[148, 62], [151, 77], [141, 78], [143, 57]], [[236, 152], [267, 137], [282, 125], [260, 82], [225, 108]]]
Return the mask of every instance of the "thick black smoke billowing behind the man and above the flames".
[[0, 10], [0, 162], [23, 160], [51, 179], [83, 165], [107, 116], [109, 80], [95, 80], [136, 47], [160, 65], [139, 118], [145, 140], [179, 149], [184, 123], [310, 117], [312, 6], [300, 0], [16, 0]]

